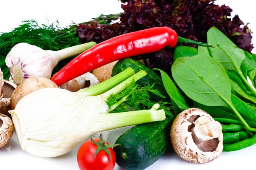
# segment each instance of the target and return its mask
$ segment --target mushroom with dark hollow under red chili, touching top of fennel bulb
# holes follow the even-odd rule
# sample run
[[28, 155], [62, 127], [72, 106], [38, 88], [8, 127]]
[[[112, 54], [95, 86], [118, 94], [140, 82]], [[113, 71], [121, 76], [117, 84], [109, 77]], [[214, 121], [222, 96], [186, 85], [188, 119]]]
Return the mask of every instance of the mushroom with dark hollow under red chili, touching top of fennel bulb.
[[99, 84], [99, 79], [95, 77], [92, 73], [88, 72], [79, 77], [76, 77], [73, 80], [70, 80], [69, 82], [64, 83], [60, 86], [60, 88], [76, 92], [84, 88], [89, 88], [96, 84]]

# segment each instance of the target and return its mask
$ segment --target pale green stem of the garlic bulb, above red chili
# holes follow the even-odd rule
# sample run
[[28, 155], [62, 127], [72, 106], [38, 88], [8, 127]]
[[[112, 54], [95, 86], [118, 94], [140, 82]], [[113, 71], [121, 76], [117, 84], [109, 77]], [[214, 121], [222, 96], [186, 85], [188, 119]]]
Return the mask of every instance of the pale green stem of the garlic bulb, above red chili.
[[72, 47], [54, 51], [55, 59], [59, 62], [63, 59], [79, 55], [82, 52], [88, 50], [89, 48], [92, 48], [94, 45], [96, 45], [96, 42], [87, 42], [84, 44], [75, 45]]

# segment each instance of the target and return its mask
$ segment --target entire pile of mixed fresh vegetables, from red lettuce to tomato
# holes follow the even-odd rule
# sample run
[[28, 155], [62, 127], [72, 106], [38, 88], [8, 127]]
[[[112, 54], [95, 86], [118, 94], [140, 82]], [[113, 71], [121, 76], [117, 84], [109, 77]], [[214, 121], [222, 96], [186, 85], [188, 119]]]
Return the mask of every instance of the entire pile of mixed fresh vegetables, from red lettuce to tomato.
[[[214, 1], [122, 0], [122, 14], [0, 34], [0, 148], [15, 128], [35, 156], [85, 141], [81, 170], [143, 170], [170, 148], [208, 163], [256, 144], [251, 31]], [[92, 137], [129, 125], [113, 145]]]

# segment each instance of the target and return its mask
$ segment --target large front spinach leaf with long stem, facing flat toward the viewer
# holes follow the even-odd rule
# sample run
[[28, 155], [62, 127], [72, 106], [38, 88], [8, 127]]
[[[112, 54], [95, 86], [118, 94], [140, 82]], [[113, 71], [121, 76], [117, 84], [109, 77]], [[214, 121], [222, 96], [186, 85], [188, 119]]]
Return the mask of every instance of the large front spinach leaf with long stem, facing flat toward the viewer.
[[212, 57], [198, 54], [178, 58], [172, 65], [172, 77], [190, 99], [202, 105], [229, 107], [248, 130], [256, 131], [232, 104], [230, 79]]

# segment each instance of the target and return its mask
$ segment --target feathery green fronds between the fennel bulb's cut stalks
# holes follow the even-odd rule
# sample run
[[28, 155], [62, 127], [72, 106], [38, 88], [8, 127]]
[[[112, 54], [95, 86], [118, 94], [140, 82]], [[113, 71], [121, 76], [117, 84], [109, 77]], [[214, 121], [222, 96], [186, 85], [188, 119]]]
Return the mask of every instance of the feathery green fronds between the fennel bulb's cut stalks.
[[[120, 94], [111, 95], [107, 101], [109, 108], [116, 104], [120, 99], [126, 98], [124, 102], [118, 105], [113, 111], [110, 113], [120, 113], [126, 111], [138, 111], [151, 109], [152, 106], [156, 103], [150, 100], [150, 93], [155, 94], [164, 98], [164, 96], [153, 88], [153, 85], [145, 85], [141, 87], [133, 82], [128, 88], [122, 91]], [[173, 115], [171, 113], [172, 105], [169, 102], [158, 101], [160, 104], [159, 109], [164, 109], [165, 113], [168, 115]]]

